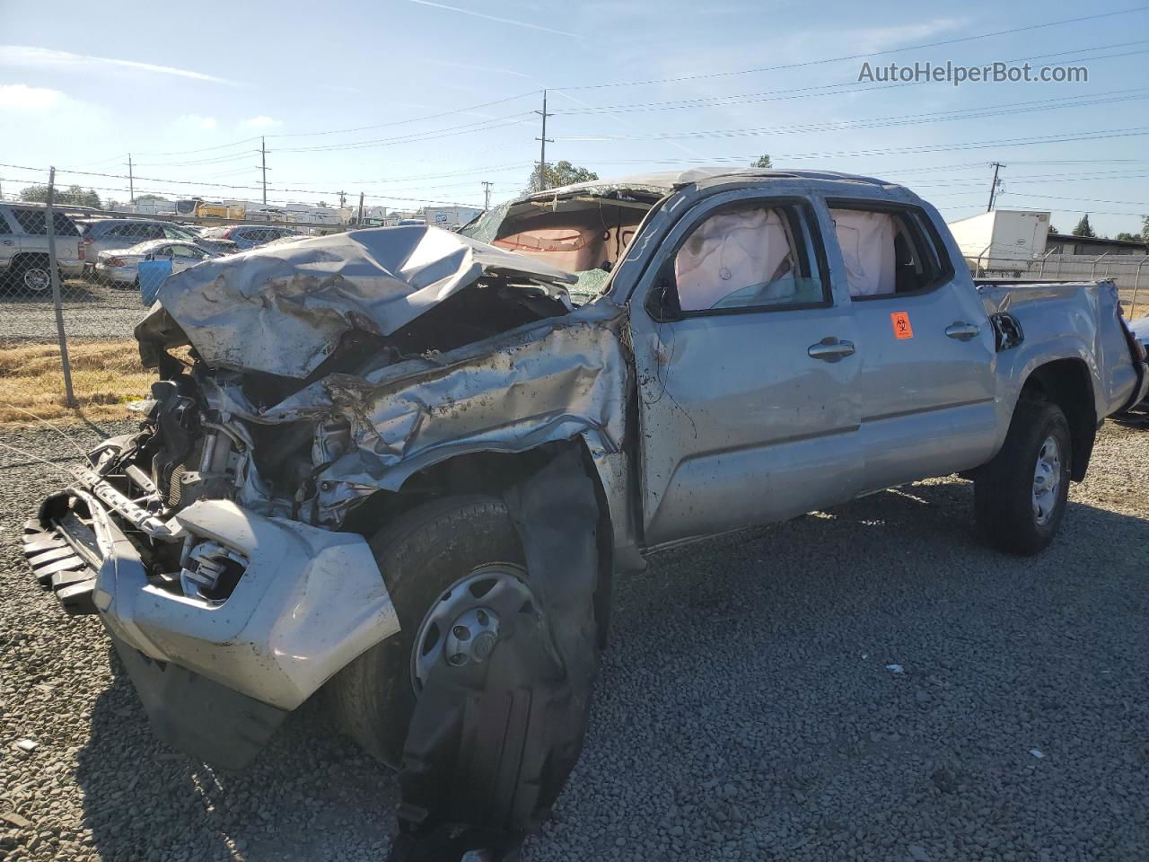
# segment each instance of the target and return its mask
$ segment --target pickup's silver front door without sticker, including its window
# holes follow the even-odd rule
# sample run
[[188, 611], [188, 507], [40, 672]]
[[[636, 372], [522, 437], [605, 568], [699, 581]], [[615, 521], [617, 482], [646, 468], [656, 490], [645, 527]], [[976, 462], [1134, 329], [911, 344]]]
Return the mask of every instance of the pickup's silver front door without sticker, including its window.
[[861, 357], [826, 228], [804, 199], [725, 192], [687, 211], [647, 269], [631, 328], [648, 546], [857, 492]]

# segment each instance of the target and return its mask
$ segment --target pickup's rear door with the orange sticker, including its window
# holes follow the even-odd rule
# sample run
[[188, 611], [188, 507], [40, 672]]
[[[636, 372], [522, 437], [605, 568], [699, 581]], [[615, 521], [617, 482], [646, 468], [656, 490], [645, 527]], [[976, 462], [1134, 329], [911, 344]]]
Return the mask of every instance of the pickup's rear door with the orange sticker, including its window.
[[924, 209], [855, 199], [828, 207], [834, 277], [859, 339], [864, 488], [984, 463], [997, 438], [996, 353], [964, 262], [950, 259]]

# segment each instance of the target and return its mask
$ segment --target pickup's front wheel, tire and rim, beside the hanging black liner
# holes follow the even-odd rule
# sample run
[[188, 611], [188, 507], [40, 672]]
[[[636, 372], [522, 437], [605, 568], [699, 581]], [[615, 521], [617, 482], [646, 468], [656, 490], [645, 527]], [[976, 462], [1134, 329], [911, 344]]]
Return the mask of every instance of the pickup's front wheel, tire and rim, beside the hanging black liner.
[[493, 497], [421, 506], [377, 533], [371, 548], [400, 631], [340, 671], [332, 693], [344, 729], [398, 769], [435, 664], [485, 661], [510, 617], [531, 613], [533, 597], [518, 532]]

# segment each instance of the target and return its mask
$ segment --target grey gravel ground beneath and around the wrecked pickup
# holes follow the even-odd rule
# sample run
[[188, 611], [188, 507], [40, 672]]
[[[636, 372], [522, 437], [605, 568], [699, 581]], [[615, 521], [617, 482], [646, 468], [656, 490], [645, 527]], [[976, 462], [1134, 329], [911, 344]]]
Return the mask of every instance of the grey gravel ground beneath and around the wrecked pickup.
[[[395, 782], [318, 710], [242, 775], [153, 740], [99, 624], [25, 574], [53, 482], [5, 457], [0, 818], [31, 825], [0, 856], [383, 859]], [[617, 586], [586, 748], [524, 859], [1149, 859], [1147, 486], [1149, 432], [1109, 424], [1036, 559], [979, 546], [958, 480], [656, 557]]]

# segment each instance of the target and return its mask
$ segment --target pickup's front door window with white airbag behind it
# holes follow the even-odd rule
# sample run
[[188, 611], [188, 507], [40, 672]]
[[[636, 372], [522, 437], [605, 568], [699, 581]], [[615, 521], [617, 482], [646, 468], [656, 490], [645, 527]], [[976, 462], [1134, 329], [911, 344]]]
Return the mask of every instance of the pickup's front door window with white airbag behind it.
[[796, 206], [724, 207], [695, 225], [673, 259], [683, 311], [826, 302], [811, 265], [811, 234]]

